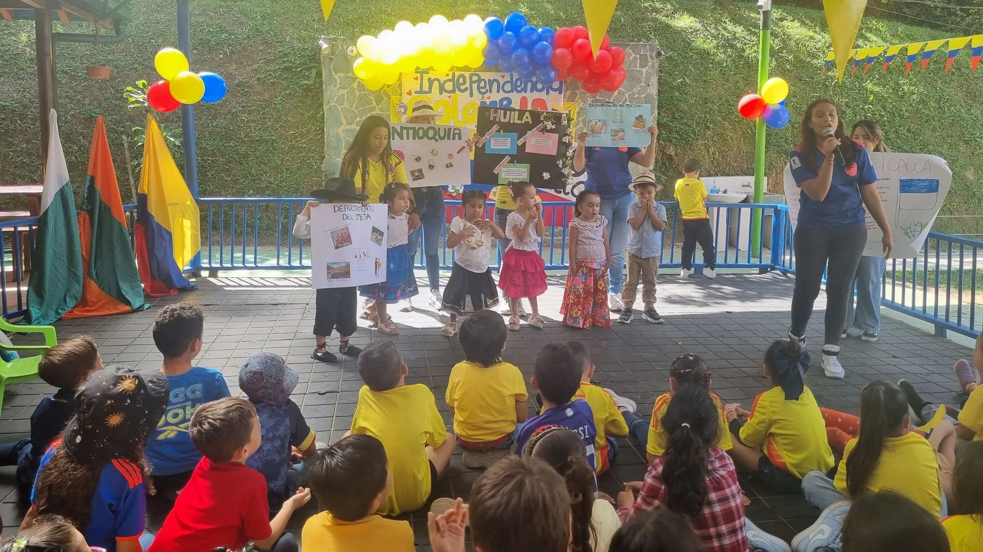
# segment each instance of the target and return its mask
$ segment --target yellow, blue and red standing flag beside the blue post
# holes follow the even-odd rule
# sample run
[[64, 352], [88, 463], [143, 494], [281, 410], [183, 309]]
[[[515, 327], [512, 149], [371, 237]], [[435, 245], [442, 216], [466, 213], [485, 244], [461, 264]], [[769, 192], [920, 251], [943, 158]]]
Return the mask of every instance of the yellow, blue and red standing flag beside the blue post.
[[137, 262], [144, 291], [164, 297], [198, 289], [183, 269], [202, 248], [201, 215], [157, 122], [146, 116], [137, 198]]

